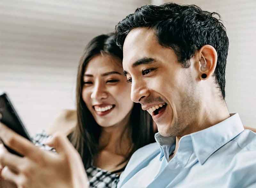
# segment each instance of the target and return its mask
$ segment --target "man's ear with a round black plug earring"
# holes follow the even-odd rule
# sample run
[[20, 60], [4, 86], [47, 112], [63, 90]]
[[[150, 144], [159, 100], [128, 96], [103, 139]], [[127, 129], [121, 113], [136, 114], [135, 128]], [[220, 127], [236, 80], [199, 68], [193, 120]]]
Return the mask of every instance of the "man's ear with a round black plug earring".
[[201, 80], [206, 80], [213, 75], [217, 64], [217, 58], [217, 52], [211, 45], [204, 45], [198, 50], [198, 72]]

